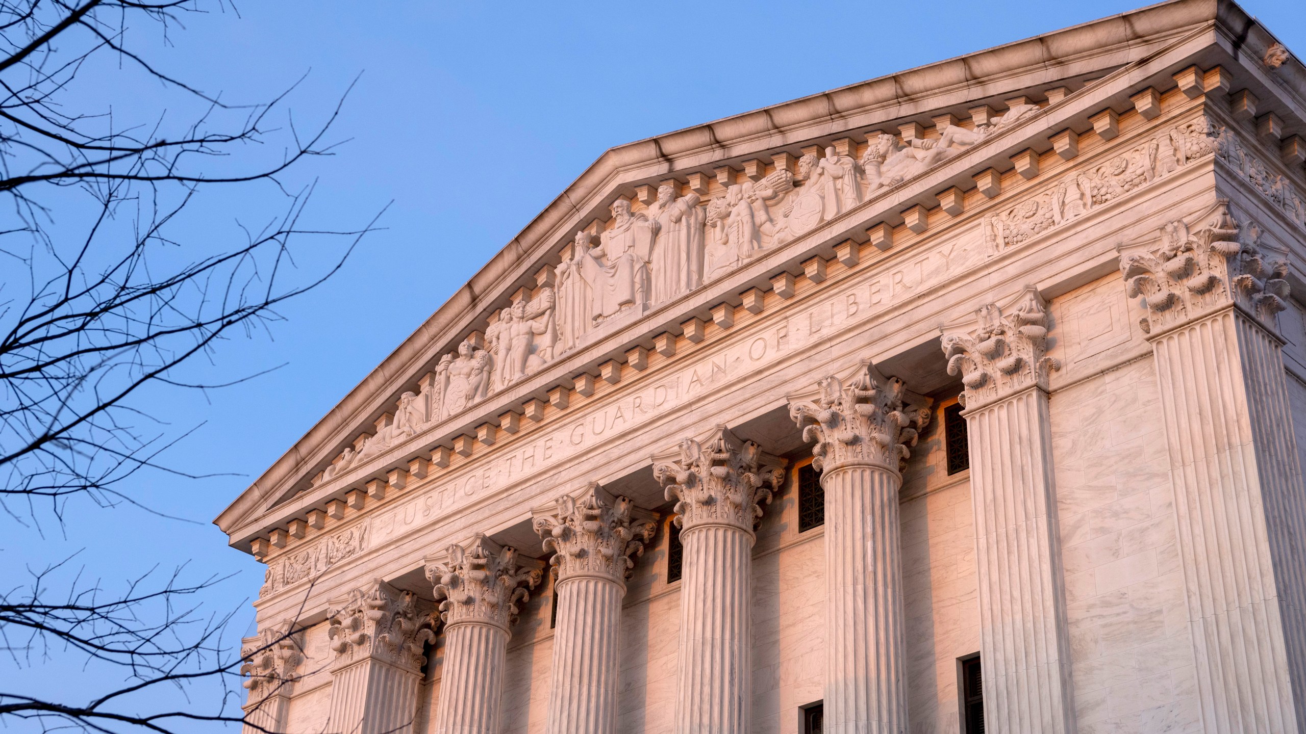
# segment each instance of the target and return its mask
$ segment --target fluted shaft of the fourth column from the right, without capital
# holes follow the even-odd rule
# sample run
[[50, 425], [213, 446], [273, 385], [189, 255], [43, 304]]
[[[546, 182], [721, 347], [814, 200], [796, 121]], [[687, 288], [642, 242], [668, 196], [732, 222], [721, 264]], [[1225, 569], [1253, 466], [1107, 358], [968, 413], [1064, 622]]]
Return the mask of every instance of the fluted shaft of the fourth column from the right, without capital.
[[752, 533], [699, 525], [680, 534], [677, 734], [750, 734]]

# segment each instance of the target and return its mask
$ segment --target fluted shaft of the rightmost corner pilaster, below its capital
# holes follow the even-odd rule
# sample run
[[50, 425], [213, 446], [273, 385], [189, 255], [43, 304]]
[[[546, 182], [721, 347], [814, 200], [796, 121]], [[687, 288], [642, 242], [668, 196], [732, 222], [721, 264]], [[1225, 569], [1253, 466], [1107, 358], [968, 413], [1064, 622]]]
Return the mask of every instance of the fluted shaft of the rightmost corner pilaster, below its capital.
[[1306, 513], [1280, 341], [1229, 307], [1152, 346], [1203, 724], [1299, 731]]

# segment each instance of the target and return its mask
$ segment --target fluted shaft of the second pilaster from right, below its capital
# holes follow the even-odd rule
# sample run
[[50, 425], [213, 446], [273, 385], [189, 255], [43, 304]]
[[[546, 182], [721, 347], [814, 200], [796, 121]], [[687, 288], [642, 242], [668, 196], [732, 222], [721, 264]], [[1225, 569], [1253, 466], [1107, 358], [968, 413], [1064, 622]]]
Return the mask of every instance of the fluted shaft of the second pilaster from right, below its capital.
[[966, 428], [985, 724], [1074, 731], [1047, 393], [1030, 387], [969, 410]]

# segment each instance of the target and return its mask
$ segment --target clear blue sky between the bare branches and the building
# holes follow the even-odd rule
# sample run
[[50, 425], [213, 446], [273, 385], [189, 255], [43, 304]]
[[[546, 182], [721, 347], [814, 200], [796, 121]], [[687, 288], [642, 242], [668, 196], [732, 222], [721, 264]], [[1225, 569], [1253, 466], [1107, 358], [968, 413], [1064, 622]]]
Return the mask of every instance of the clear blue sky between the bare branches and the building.
[[[74, 503], [63, 532], [47, 526], [44, 539], [7, 524], [0, 582], [20, 584], [24, 564], [80, 549], [88, 573], [110, 586], [153, 564], [189, 563], [196, 577], [236, 572], [206, 603], [239, 609], [243, 632], [261, 567], [227, 549], [212, 519], [606, 148], [1134, 7], [264, 1], [189, 17], [172, 47], [144, 34], [138, 48], [168, 73], [235, 98], [268, 97], [308, 72], [293, 98], [304, 124], [362, 73], [334, 128], [349, 141], [295, 180], [317, 178], [308, 214], [321, 226], [359, 226], [393, 204], [385, 230], [285, 308], [270, 337], [231, 341], [214, 355], [219, 372], [283, 367], [208, 394], [144, 396], [170, 431], [199, 426], [171, 451], [172, 465], [236, 474], [142, 475], [131, 487], [191, 522]], [[1289, 48], [1306, 50], [1306, 3], [1245, 7]], [[200, 209], [197, 236], [221, 243], [257, 206], [249, 192], [215, 193]], [[56, 661], [20, 686], [89, 696], [102, 683], [90, 678]]]

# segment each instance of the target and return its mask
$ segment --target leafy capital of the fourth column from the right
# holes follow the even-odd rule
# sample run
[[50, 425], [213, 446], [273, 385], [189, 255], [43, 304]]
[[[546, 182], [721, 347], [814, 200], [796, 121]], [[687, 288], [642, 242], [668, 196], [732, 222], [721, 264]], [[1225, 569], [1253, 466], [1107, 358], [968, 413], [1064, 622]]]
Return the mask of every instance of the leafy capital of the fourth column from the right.
[[666, 488], [666, 499], [675, 500], [675, 524], [686, 530], [729, 525], [751, 535], [789, 464], [725, 426], [707, 444], [682, 440], [679, 452], [678, 458], [654, 462], [653, 477]]

